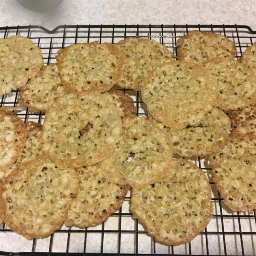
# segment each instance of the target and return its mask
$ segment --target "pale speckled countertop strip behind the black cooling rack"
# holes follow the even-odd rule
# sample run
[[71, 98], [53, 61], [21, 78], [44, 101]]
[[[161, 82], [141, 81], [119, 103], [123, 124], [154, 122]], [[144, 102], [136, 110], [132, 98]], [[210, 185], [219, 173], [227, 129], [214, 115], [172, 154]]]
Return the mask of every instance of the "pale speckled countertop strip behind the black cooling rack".
[[256, 0], [64, 0], [49, 12], [0, 0], [0, 26], [186, 23], [240, 24], [256, 30]]

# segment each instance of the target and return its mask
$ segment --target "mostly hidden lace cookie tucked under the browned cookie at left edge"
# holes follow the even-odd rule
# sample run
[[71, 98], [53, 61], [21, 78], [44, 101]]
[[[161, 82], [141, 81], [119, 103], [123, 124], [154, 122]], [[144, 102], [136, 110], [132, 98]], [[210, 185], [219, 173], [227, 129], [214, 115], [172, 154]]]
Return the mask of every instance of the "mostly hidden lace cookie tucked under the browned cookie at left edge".
[[5, 178], [20, 165], [20, 163], [25, 163], [42, 154], [42, 145], [39, 142], [39, 138], [43, 130], [43, 125], [33, 121], [26, 122], [25, 125], [27, 136], [24, 148], [20, 151], [19, 157], [15, 160], [13, 165], [10, 168], [7, 168], [4, 172], [0, 172], [0, 181], [4, 181]]

